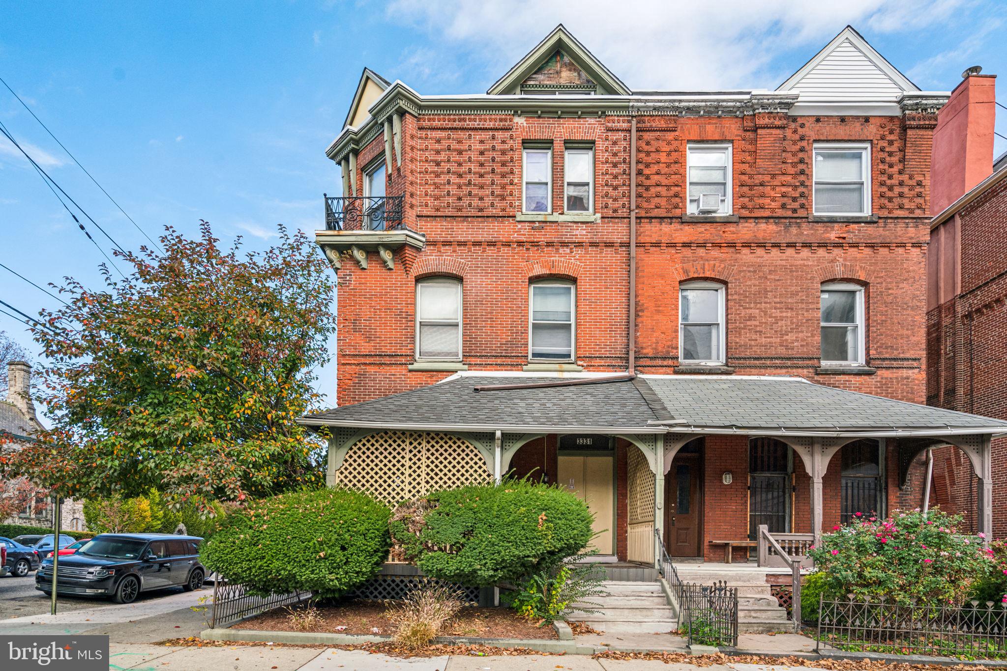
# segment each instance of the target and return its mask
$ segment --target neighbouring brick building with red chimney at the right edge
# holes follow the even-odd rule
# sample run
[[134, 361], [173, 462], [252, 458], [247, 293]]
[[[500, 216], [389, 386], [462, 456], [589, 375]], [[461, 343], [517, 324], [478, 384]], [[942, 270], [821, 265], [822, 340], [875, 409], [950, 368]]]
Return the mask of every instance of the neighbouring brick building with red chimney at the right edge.
[[[996, 78], [969, 74], [941, 110], [926, 295], [926, 402], [1007, 417], [1007, 157], [993, 161]], [[978, 480], [932, 451], [930, 502], [975, 528]], [[993, 531], [1007, 535], [1007, 439], [993, 441]], [[973, 494], [973, 499], [966, 497]]]

